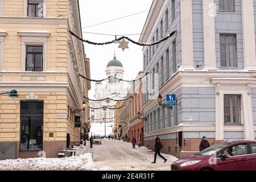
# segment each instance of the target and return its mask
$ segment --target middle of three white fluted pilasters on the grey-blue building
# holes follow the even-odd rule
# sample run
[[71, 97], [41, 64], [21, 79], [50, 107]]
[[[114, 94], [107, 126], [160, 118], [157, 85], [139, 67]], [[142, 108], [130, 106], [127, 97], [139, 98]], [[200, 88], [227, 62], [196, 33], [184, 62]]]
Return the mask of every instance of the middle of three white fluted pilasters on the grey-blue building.
[[204, 67], [210, 70], [216, 69], [215, 11], [214, 0], [203, 1]]

